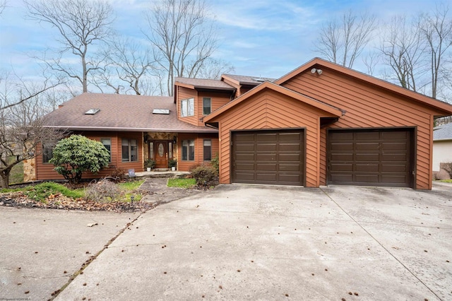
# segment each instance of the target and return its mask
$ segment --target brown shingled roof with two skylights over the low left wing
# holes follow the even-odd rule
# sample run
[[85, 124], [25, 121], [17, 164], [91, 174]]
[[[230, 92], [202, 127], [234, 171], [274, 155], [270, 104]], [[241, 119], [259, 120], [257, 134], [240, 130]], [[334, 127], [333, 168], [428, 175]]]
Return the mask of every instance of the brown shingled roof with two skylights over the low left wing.
[[[86, 114], [91, 109], [99, 111]], [[169, 114], [153, 114], [154, 109], [167, 109]], [[47, 126], [89, 131], [217, 132], [177, 119], [172, 97], [101, 93], [83, 93], [64, 102], [47, 115]]]

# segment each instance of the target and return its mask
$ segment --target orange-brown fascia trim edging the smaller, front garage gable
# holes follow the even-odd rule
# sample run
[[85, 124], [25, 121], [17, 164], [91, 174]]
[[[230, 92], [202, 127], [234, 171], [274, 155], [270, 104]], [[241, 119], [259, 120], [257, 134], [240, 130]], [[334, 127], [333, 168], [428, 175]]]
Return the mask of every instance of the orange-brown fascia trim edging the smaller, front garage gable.
[[263, 90], [266, 89], [270, 89], [278, 93], [290, 96], [291, 98], [299, 100], [300, 102], [304, 102], [308, 105], [316, 107], [319, 110], [323, 110], [325, 112], [328, 112], [329, 114], [333, 114], [336, 117], [340, 117], [343, 114], [345, 114], [345, 112], [338, 109], [337, 107], [327, 105], [326, 103], [320, 102], [319, 100], [314, 100], [314, 98], [309, 98], [306, 95], [302, 95], [290, 89], [284, 88], [280, 85], [275, 85], [274, 83], [266, 81], [264, 83], [261, 83], [261, 85], [258, 85], [256, 88], [250, 90], [249, 92], [232, 100], [231, 102], [228, 102], [226, 105], [223, 105], [218, 110], [215, 110], [214, 112], [208, 114], [206, 117], [203, 118], [203, 122], [206, 123], [210, 122], [211, 120], [215, 119], [215, 117], [218, 117], [220, 114], [226, 112], [227, 110], [230, 110], [232, 107], [239, 105], [239, 103], [246, 101], [247, 99], [251, 98], [251, 96], [261, 93]]

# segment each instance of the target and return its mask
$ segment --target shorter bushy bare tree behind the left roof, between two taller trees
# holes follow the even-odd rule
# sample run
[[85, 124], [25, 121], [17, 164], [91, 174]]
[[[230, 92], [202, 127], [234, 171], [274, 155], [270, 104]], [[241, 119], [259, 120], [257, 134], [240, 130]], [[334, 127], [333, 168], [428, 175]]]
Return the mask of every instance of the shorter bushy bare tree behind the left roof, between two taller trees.
[[143, 45], [130, 38], [119, 37], [109, 42], [109, 47], [105, 50], [105, 57], [108, 66], [97, 72], [97, 76], [102, 78], [103, 83], [114, 88], [115, 93], [119, 94], [122, 86], [115, 84], [112, 80], [116, 77], [127, 83], [136, 95], [143, 94], [141, 83], [145, 76], [153, 73], [153, 64], [155, 64], [150, 49], [145, 49]]

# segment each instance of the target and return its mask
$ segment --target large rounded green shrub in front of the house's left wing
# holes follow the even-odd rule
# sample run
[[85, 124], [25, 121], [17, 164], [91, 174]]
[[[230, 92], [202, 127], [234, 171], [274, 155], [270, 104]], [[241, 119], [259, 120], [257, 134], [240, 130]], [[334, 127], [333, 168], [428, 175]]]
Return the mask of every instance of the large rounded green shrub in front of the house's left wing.
[[71, 184], [80, 182], [82, 173], [90, 170], [97, 173], [106, 167], [110, 153], [99, 141], [94, 141], [81, 135], [72, 135], [57, 143], [53, 150], [53, 158], [49, 163]]

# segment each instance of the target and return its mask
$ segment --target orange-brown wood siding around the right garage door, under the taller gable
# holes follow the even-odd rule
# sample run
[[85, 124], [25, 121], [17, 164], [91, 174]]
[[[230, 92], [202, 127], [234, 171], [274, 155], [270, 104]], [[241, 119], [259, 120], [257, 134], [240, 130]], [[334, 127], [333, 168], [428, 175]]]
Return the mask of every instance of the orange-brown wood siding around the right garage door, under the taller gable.
[[[331, 128], [417, 126], [415, 188], [432, 188], [430, 170], [434, 112], [427, 106], [325, 68], [321, 76], [305, 71], [282, 85], [346, 110], [345, 116]], [[321, 131], [320, 153], [321, 184], [326, 184], [326, 129]]]

